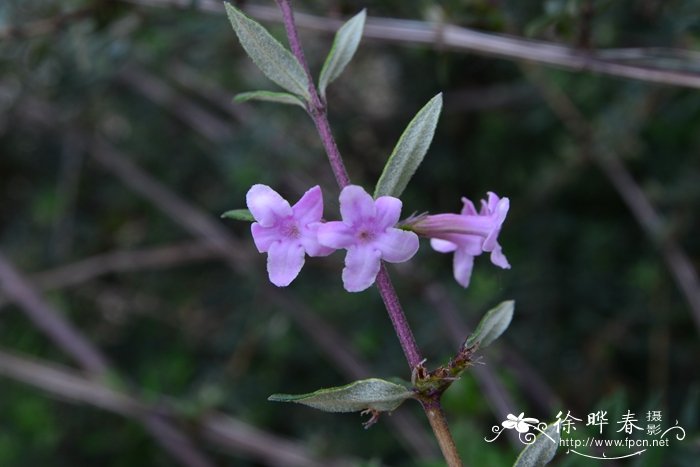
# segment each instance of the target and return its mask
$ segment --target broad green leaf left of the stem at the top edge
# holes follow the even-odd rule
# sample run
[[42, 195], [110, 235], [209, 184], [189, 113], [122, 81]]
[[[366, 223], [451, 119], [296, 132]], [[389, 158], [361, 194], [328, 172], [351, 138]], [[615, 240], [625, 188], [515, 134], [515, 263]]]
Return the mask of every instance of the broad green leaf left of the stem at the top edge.
[[308, 101], [309, 80], [299, 61], [260, 23], [229, 3], [224, 6], [243, 49], [265, 76]]

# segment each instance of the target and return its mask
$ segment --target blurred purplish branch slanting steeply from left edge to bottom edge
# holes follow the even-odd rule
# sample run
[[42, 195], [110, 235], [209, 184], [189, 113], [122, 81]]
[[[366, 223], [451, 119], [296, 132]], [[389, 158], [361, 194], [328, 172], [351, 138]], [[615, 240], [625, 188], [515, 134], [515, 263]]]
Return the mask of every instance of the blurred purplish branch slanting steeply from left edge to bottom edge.
[[[0, 288], [19, 305], [34, 324], [63, 351], [68, 353], [94, 378], [116, 374], [107, 359], [61, 314], [46, 303], [29, 282], [0, 252]], [[176, 428], [147, 414], [141, 422], [173, 459], [188, 467], [213, 464]]]

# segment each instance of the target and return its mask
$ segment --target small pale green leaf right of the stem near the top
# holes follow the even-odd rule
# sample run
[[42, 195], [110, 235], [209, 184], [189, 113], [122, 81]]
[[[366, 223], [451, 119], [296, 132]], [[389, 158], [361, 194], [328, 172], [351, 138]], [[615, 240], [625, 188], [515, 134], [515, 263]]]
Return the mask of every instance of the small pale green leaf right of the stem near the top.
[[318, 79], [318, 90], [324, 100], [326, 87], [340, 76], [355, 55], [362, 38], [362, 31], [365, 28], [365, 19], [367, 19], [367, 12], [362, 10], [350, 18], [335, 34], [333, 46], [328, 52], [326, 62], [321, 69], [321, 76]]

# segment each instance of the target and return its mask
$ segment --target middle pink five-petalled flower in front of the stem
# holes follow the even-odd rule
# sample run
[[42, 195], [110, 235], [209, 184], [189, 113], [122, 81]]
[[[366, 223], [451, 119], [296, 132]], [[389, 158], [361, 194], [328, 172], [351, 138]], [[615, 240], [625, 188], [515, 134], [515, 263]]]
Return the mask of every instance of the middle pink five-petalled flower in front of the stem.
[[376, 200], [362, 187], [349, 185], [340, 193], [342, 221], [318, 228], [318, 241], [327, 247], [344, 248], [343, 286], [361, 292], [374, 283], [380, 261], [401, 263], [418, 251], [418, 236], [396, 229], [401, 201], [392, 196]]

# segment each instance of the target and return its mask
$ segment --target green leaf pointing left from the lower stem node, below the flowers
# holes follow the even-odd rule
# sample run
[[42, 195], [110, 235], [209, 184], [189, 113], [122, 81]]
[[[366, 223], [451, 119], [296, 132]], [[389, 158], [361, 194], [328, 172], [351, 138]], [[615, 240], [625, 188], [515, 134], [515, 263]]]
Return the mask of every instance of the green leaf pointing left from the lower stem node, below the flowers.
[[308, 394], [273, 394], [267, 400], [296, 402], [326, 412], [358, 412], [365, 409], [385, 412], [394, 410], [411, 397], [413, 392], [405, 386], [370, 378]]

